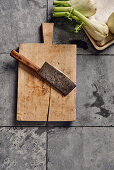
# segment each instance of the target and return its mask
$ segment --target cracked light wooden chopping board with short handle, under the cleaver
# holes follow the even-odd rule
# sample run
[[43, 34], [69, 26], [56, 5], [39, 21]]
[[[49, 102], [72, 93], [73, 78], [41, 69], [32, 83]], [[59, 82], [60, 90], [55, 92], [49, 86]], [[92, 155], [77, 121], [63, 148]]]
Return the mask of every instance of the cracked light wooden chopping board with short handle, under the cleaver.
[[[52, 44], [53, 23], [43, 23], [42, 32], [44, 43], [20, 44], [19, 53], [39, 67], [49, 62], [76, 83], [76, 45]], [[19, 63], [17, 120], [47, 121], [47, 117], [48, 121], [74, 121], [76, 88], [64, 97]]]

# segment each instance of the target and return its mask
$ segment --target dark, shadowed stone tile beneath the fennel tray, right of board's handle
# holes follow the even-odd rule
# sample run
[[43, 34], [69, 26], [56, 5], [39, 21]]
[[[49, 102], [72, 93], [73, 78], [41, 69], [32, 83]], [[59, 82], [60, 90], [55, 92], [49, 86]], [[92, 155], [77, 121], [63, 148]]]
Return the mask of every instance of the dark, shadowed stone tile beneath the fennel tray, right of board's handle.
[[78, 34], [73, 33], [73, 28], [75, 22], [67, 21], [64, 18], [52, 17], [53, 10], [53, 0], [48, 0], [48, 20], [55, 23], [54, 27], [54, 43], [57, 44], [77, 44], [78, 54], [114, 54], [114, 45], [105, 49], [104, 51], [97, 51], [90, 40], [84, 33], [84, 31], [79, 32]]

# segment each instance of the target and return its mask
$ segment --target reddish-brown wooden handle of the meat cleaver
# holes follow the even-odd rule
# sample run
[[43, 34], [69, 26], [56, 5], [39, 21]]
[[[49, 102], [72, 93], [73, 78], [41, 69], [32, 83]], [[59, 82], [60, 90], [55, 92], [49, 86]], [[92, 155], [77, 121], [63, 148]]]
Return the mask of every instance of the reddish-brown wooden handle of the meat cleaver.
[[38, 72], [38, 70], [40, 70], [40, 68], [38, 66], [36, 66], [35, 64], [33, 64], [31, 61], [29, 61], [26, 57], [24, 57], [22, 54], [19, 54], [18, 52], [16, 52], [15, 50], [12, 50], [10, 55], [15, 58], [16, 60], [20, 61], [21, 63], [23, 63], [24, 65], [28, 66], [29, 68], [31, 68], [32, 70]]

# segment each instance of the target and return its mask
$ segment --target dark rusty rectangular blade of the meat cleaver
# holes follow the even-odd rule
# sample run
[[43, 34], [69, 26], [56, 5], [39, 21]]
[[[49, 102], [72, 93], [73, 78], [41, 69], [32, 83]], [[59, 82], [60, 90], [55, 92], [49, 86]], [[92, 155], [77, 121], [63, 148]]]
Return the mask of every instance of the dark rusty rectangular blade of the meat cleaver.
[[64, 96], [70, 93], [75, 87], [73, 83], [64, 73], [45, 62], [38, 71], [39, 76], [49, 82], [53, 87], [59, 90]]

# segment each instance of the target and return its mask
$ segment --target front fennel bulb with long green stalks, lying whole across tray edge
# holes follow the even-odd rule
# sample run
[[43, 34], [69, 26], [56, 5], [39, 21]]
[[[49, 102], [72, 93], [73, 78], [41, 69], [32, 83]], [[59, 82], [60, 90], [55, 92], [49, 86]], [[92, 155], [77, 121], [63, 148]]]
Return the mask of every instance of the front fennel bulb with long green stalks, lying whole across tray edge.
[[[59, 7], [54, 8], [56, 13], [53, 13], [54, 17], [67, 17], [68, 19], [75, 19], [80, 25], [82, 25], [89, 35], [95, 39], [96, 41], [102, 41], [104, 38], [108, 36], [108, 26], [105, 23], [97, 22], [95, 19], [90, 20], [89, 18], [85, 17], [82, 13], [73, 8], [70, 10], [66, 10], [66, 12], [59, 12]], [[80, 25], [76, 26], [75, 32], [80, 30]]]

